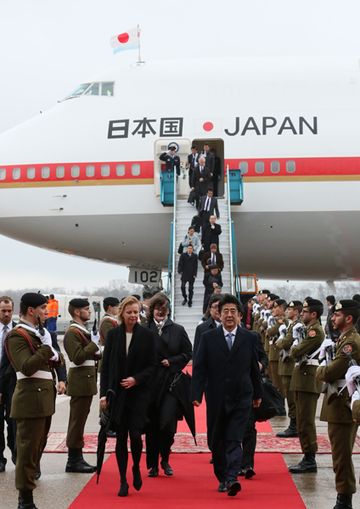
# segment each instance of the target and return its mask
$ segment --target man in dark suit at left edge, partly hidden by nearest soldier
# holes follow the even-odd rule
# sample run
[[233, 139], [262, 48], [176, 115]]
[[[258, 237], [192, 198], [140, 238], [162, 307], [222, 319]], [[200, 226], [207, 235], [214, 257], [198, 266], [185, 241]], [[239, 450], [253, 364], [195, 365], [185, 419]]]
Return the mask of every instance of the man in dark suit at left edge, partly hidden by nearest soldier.
[[5, 337], [15, 326], [12, 321], [14, 302], [10, 297], [0, 297], [0, 472], [5, 471], [5, 422], [7, 424], [7, 445], [11, 459], [16, 463], [16, 423], [10, 418], [11, 400], [16, 385], [16, 373], [5, 350]]

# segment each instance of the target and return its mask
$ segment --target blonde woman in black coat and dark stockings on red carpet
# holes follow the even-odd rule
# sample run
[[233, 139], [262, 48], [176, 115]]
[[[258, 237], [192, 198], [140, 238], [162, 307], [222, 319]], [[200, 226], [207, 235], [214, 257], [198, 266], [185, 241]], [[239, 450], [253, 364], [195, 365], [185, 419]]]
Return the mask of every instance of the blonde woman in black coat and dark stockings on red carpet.
[[106, 393], [115, 392], [111, 411], [111, 429], [116, 431], [116, 459], [120, 472], [118, 495], [128, 494], [126, 477], [128, 450], [133, 459], [133, 486], [140, 490], [141, 434], [147, 423], [151, 382], [156, 371], [155, 336], [139, 323], [140, 302], [133, 296], [121, 303], [120, 325], [108, 332], [105, 341], [100, 381], [100, 406], [107, 406]]

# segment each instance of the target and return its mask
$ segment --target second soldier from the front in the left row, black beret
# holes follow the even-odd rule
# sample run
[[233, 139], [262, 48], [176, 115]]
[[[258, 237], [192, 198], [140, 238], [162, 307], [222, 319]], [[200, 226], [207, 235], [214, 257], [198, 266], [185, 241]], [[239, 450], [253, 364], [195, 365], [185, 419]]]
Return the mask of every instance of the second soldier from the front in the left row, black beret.
[[72, 299], [69, 302], [72, 321], [64, 336], [64, 348], [69, 356], [67, 394], [70, 399], [69, 424], [66, 445], [69, 449], [66, 472], [90, 474], [96, 467], [83, 458], [84, 428], [90, 412], [93, 396], [97, 393], [96, 362], [101, 358], [97, 345], [98, 335], [85, 328], [90, 319], [90, 304], [87, 299]]

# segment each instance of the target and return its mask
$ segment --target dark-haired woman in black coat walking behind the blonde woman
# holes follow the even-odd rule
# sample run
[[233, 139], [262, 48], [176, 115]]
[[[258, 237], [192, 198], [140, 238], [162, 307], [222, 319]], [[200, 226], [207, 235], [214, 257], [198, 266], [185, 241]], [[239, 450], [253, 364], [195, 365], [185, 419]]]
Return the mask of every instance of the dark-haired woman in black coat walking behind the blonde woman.
[[[146, 430], [146, 464], [149, 477], [159, 475], [159, 456], [165, 475], [173, 475], [169, 464], [177, 421], [182, 416], [179, 403], [169, 391], [171, 383], [192, 357], [192, 346], [182, 325], [169, 318], [170, 303], [164, 294], [150, 302], [148, 328], [155, 333], [157, 371], [152, 386], [150, 423]], [[190, 401], [190, 394], [188, 395]]]

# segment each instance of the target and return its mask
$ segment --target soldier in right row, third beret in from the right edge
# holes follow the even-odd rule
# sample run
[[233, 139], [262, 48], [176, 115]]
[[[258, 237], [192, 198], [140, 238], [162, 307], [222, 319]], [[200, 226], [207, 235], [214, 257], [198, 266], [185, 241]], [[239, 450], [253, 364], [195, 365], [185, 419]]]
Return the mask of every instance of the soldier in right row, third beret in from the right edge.
[[286, 316], [289, 320], [286, 332], [275, 343], [275, 347], [279, 352], [279, 376], [281, 377], [283, 394], [288, 404], [288, 415], [290, 418], [289, 426], [286, 430], [276, 434], [280, 438], [297, 437], [296, 428], [296, 406], [293, 391], [290, 390], [291, 376], [293, 374], [295, 362], [290, 358], [289, 352], [295, 340], [299, 340], [299, 329], [303, 329], [304, 325], [300, 320], [302, 311], [302, 302], [294, 300], [290, 302], [286, 309]]

